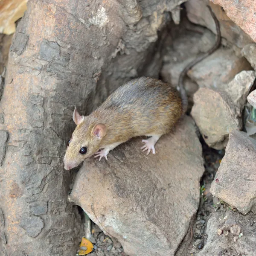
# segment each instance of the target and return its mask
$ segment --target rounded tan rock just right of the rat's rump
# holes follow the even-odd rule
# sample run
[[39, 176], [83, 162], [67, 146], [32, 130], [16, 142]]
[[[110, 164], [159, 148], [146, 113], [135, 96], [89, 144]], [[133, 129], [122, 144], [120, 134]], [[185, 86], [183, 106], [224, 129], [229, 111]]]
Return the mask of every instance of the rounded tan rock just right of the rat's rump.
[[200, 88], [194, 95], [191, 115], [209, 147], [222, 149], [227, 145], [230, 131], [240, 130], [241, 122], [227, 96], [209, 88]]

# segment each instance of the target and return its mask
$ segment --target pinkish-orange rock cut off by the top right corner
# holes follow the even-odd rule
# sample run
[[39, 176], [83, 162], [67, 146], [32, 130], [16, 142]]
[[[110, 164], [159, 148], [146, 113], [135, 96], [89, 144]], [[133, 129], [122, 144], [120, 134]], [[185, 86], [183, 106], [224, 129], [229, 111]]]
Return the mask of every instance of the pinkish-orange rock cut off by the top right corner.
[[241, 29], [244, 30], [256, 42], [256, 17], [254, 0], [226, 1], [212, 0], [213, 3], [223, 7], [230, 17]]

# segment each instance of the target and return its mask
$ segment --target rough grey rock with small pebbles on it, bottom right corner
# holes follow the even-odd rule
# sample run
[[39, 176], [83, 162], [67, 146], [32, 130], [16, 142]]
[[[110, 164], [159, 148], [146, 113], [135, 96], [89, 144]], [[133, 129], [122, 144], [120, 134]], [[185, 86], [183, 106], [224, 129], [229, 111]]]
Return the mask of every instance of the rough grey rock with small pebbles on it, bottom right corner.
[[[207, 223], [208, 235], [204, 248], [196, 256], [255, 256], [256, 255], [256, 217], [247, 216], [229, 209], [213, 212]], [[223, 229], [224, 228], [224, 229]], [[242, 236], [239, 238], [236, 232]], [[218, 232], [220, 235], [218, 235]], [[236, 242], [235, 242], [236, 240]], [[193, 254], [194, 255], [194, 254]]]

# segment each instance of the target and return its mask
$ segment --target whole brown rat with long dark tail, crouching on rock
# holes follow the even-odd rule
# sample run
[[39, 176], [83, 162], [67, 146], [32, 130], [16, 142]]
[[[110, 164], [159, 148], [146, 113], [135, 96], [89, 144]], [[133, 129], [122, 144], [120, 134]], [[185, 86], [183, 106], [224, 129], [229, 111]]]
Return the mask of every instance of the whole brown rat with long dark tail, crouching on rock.
[[[210, 9], [210, 8], [209, 8]], [[64, 168], [70, 170], [85, 159], [95, 155], [108, 160], [108, 153], [132, 137], [147, 136], [142, 140], [142, 151], [153, 154], [155, 144], [163, 134], [174, 128], [186, 113], [187, 96], [183, 80], [187, 71], [206, 58], [220, 45], [221, 35], [218, 20], [210, 9], [217, 28], [214, 46], [203, 56], [188, 64], [179, 78], [179, 89], [158, 79], [140, 77], [117, 88], [102, 105], [88, 116], [82, 116], [75, 108], [73, 121], [76, 129], [67, 142]]]

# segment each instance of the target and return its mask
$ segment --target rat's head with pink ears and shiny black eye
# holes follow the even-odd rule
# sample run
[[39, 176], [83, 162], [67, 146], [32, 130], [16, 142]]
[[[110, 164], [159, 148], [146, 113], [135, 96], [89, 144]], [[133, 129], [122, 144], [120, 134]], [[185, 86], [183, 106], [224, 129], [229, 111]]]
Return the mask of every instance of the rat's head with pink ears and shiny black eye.
[[67, 142], [64, 156], [66, 170], [79, 166], [86, 158], [96, 153], [106, 134], [104, 124], [97, 123], [90, 116], [81, 116], [76, 108], [73, 112], [73, 120], [77, 126], [71, 139]]

